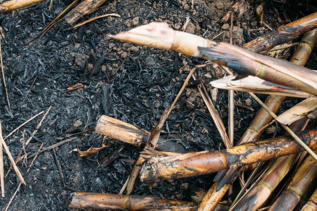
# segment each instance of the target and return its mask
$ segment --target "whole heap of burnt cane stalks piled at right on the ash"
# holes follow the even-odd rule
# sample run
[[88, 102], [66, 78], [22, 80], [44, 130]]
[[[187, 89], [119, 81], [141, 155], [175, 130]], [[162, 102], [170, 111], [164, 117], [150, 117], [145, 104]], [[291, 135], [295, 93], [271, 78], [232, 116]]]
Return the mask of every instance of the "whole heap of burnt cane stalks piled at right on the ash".
[[[312, 121], [307, 118], [317, 109], [317, 72], [304, 67], [317, 43], [315, 28], [317, 13], [283, 25], [243, 48], [176, 31], [164, 22], [152, 22], [113, 35], [114, 39], [171, 49], [217, 63], [228, 71], [232, 69], [233, 75], [214, 80], [210, 86], [248, 92], [262, 107], [236, 146], [232, 146], [228, 143], [223, 123], [219, 121], [219, 114], [212, 101], [208, 100], [210, 97], [204, 91], [204, 84], [201, 84], [199, 91], [226, 149], [199, 152], [188, 152], [181, 144], [159, 136], [179, 95], [165, 109], [151, 132], [102, 116], [95, 128], [97, 133], [141, 147], [143, 151], [135, 160], [131, 175], [119, 195], [73, 193], [66, 199], [65, 206], [112, 210], [293, 210], [308, 193], [310, 198], [308, 196], [308, 201], [306, 199], [300, 208], [317, 210], [317, 190], [314, 191], [317, 188], [314, 183], [317, 174], [317, 129], [310, 126]], [[301, 42], [290, 61], [263, 55], [276, 45], [301, 35]], [[199, 67], [191, 71], [188, 80], [191, 76], [195, 77], [193, 73]], [[254, 93], [268, 94], [268, 97], [262, 102]], [[275, 115], [286, 97], [301, 98], [301, 102]], [[286, 134], [259, 140], [264, 129], [274, 122], [281, 125]], [[241, 180], [242, 172], [246, 170], [249, 177], [241, 187], [236, 187], [240, 190], [236, 198], [229, 206], [221, 204], [230, 186], [237, 178]], [[217, 172], [214, 183], [199, 203], [132, 195], [138, 179], [149, 182], [213, 172]], [[280, 191], [276, 190], [277, 187]]]

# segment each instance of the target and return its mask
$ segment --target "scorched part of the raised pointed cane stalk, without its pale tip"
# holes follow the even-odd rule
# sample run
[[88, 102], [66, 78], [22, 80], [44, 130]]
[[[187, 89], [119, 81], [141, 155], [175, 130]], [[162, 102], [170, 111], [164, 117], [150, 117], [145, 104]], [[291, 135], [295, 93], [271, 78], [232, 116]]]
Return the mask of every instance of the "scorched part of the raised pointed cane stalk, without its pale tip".
[[230, 67], [241, 75], [256, 76], [317, 96], [317, 73], [306, 67], [256, 54], [225, 42], [198, 49], [209, 60]]

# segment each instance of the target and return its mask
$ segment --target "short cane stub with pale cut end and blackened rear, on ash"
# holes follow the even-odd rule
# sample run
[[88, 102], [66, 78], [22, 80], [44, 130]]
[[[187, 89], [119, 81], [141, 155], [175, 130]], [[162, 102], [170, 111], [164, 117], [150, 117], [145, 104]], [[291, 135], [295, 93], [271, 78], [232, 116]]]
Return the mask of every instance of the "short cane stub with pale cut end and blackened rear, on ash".
[[[151, 133], [118, 119], [102, 115], [95, 127], [95, 132], [138, 147], [144, 147]], [[155, 146], [159, 151], [186, 152], [181, 144], [159, 138]]]

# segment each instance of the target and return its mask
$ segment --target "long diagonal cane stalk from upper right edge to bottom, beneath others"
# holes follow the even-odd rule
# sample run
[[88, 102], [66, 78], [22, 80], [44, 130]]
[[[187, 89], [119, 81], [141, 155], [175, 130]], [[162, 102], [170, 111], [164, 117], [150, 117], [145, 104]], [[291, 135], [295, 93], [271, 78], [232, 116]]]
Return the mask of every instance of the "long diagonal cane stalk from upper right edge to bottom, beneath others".
[[[290, 61], [296, 65], [304, 66], [316, 43], [317, 29], [307, 32], [303, 36]], [[268, 98], [265, 100], [265, 105], [267, 105], [267, 107], [272, 112], [276, 113], [284, 99], [284, 96], [269, 95]], [[249, 143], [259, 139], [263, 132], [262, 128], [271, 120], [272, 116], [269, 115], [269, 113], [262, 107], [256, 113], [255, 118], [249, 125], [248, 129], [243, 133], [243, 136], [240, 138], [237, 145]], [[236, 180], [241, 170], [241, 168], [236, 167], [229, 169], [224, 176], [223, 174], [218, 174], [214, 179], [215, 183], [211, 186], [206, 196], [199, 204], [198, 210], [205, 211], [214, 209], [227, 192], [230, 183]]]

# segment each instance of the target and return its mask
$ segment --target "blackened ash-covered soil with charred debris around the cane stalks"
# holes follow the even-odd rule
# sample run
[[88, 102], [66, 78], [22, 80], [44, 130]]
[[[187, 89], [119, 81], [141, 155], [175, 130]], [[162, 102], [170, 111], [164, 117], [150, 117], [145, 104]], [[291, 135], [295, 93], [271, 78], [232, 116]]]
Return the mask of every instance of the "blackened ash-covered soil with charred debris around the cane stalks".
[[[103, 109], [101, 87], [109, 87], [109, 116], [152, 131], [165, 107], [172, 103], [189, 70], [195, 65], [203, 64], [204, 60], [178, 55], [171, 50], [123, 43], [107, 35], [152, 21], [166, 21], [172, 28], [181, 30], [188, 15], [191, 22], [186, 28], [187, 32], [212, 39], [224, 31], [215, 41], [229, 42], [229, 25], [220, 22], [230, 11], [227, 6], [229, 1], [194, 0], [192, 10], [191, 1], [186, 0], [108, 0], [98, 10], [77, 22], [108, 13], [117, 13], [121, 18], [104, 17], [75, 30], [68, 30], [67, 23], [61, 20], [41, 39], [26, 45], [71, 3], [54, 1], [53, 9], [48, 11], [49, 2], [45, 0], [16, 10], [13, 17], [12, 13], [0, 15], [0, 25], [5, 35], [5, 40], [1, 40], [3, 65], [14, 116], [11, 118], [4, 108], [7, 103], [1, 77], [0, 119], [3, 137], [33, 115], [41, 111], [46, 112], [52, 105], [41, 128], [25, 147], [25, 151], [34, 153], [41, 142], [44, 146], [49, 146], [71, 134], [84, 131], [73, 135], [78, 137], [74, 141], [55, 148], [66, 184], [81, 192], [117, 194], [132, 169], [132, 164], [124, 162], [123, 159], [135, 159], [140, 149], [124, 144], [124, 150], [108, 166], [100, 163], [100, 160], [122, 143], [106, 138], [106, 144], [110, 146], [87, 157], [81, 157], [78, 152], [72, 151], [77, 149], [77, 146], [81, 150], [87, 150], [90, 146], [101, 145], [103, 137], [94, 133], [98, 118], [107, 112]], [[239, 46], [269, 31], [266, 27], [260, 28], [256, 22], [255, 10], [261, 2], [248, 2], [250, 9], [234, 21], [233, 42]], [[307, 1], [287, 1], [286, 4], [282, 2], [284, 1], [266, 1], [264, 21], [272, 28], [286, 23], [283, 14], [293, 21], [315, 10], [309, 7], [311, 11], [306, 11]], [[298, 6], [298, 3], [304, 5]], [[281, 18], [281, 22], [277, 17]], [[290, 48], [280, 54], [281, 58], [289, 59], [293, 52], [294, 48]], [[101, 56], [104, 56], [104, 61], [89, 78], [91, 69]], [[307, 67], [317, 69], [316, 49], [311, 54]], [[225, 75], [212, 64], [196, 72], [206, 84]], [[85, 87], [65, 93], [69, 86], [77, 83]], [[266, 95], [258, 96], [262, 100], [266, 98]], [[247, 93], [236, 92], [234, 99], [234, 138], [238, 141], [259, 105]], [[226, 127], [227, 103], [228, 92], [219, 90], [216, 107]], [[294, 99], [287, 98], [279, 112], [287, 110], [293, 104]], [[25, 130], [24, 140], [27, 140], [42, 116], [6, 139], [14, 158], [22, 150], [23, 131]], [[275, 129], [277, 135], [283, 133], [280, 128], [271, 126], [262, 138], [272, 137]], [[195, 86], [187, 87], [181, 95], [177, 108], [171, 112], [163, 131], [163, 137], [183, 144], [189, 151], [224, 148]], [[167, 132], [171, 134], [166, 134]], [[31, 159], [28, 159], [27, 164], [30, 162]], [[62, 202], [70, 191], [62, 185], [52, 150], [38, 155], [28, 173], [22, 162], [18, 163], [18, 167], [27, 184], [21, 186], [9, 210], [64, 209]], [[9, 168], [10, 161], [4, 154], [4, 174]], [[215, 174], [148, 184], [138, 182], [134, 194], [191, 200], [188, 187], [207, 190], [214, 176]], [[18, 183], [16, 174], [11, 171], [5, 179], [5, 197], [0, 200], [0, 208], [6, 207]], [[223, 200], [226, 199], [227, 196]]]

